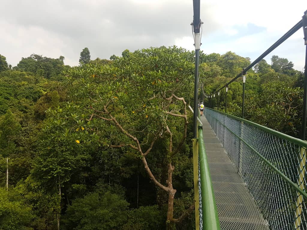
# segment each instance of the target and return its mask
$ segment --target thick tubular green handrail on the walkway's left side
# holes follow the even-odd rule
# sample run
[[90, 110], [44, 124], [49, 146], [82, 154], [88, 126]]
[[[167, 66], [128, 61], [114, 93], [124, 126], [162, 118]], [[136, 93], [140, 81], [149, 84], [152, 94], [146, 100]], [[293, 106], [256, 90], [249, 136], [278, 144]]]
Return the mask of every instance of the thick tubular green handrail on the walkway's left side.
[[198, 145], [203, 230], [220, 230], [220, 221], [204, 144], [203, 129], [200, 124], [198, 126]]

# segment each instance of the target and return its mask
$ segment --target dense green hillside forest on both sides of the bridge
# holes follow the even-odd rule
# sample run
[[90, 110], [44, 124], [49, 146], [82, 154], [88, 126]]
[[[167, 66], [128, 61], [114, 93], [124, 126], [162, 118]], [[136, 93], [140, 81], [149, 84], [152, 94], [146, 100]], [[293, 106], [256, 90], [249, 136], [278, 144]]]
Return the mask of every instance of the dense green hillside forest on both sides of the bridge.
[[[194, 52], [91, 60], [84, 48], [79, 66], [64, 61], [32, 54], [12, 67], [0, 55], [0, 229], [195, 229]], [[210, 94], [250, 63], [201, 52], [200, 86]], [[303, 72], [272, 56], [246, 82], [245, 118], [299, 136]], [[227, 112], [241, 103], [238, 79]]]

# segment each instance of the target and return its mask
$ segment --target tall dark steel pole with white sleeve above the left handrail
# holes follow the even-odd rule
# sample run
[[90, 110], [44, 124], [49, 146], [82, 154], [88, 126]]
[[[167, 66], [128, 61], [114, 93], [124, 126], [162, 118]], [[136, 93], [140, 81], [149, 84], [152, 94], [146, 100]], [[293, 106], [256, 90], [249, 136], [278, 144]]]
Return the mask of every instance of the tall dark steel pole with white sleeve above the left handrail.
[[193, 0], [193, 30], [195, 39], [195, 73], [194, 73], [194, 114], [193, 114], [193, 137], [197, 138], [197, 102], [198, 102], [198, 67], [200, 50], [200, 0]]

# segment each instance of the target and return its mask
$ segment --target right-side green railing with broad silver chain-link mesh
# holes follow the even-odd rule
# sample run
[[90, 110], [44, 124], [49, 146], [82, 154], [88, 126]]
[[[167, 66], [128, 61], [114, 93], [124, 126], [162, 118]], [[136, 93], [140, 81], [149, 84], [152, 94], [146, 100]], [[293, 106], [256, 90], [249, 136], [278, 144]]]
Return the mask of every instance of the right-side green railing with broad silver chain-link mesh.
[[204, 115], [269, 228], [307, 230], [307, 143], [217, 110]]

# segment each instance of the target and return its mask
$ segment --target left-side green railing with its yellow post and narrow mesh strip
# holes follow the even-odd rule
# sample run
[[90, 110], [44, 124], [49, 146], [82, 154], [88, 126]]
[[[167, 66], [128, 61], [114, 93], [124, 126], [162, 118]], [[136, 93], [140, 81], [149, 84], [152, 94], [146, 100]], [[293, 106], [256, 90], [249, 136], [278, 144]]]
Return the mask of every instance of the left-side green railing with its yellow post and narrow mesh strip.
[[193, 139], [193, 167], [196, 230], [220, 230], [200, 119], [198, 119], [197, 139]]

